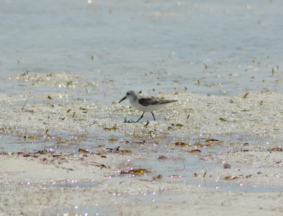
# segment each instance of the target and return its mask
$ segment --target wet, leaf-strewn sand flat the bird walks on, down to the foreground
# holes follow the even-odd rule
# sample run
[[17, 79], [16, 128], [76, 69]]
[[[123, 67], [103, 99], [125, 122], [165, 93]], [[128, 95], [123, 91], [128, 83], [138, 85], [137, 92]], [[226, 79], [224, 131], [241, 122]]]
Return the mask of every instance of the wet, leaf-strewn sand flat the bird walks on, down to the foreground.
[[[53, 94], [51, 101], [60, 100], [59, 95]], [[48, 129], [47, 134], [52, 134], [53, 130], [52, 136], [55, 136], [55, 131], [69, 131], [77, 135], [77, 140], [87, 140], [98, 132], [104, 134], [101, 135], [104, 140], [97, 139], [97, 145], [111, 143], [109, 139], [113, 137], [118, 141], [110, 144], [113, 150], [105, 150], [106, 146], [88, 148], [86, 144], [70, 143], [73, 150], [54, 147], [50, 151], [37, 145], [34, 151], [29, 149], [29, 152], [20, 154], [5, 151], [2, 143], [0, 215], [282, 213], [282, 94], [250, 92], [244, 97], [178, 92], [157, 96], [179, 102], [156, 112], [156, 122], [152, 122], [152, 116], [147, 114], [142, 122], [124, 123], [125, 117], [138, 119], [140, 112], [132, 110], [128, 104], [114, 102], [105, 105], [83, 100], [69, 101], [64, 105], [31, 104], [28, 101], [22, 109], [29, 95], [2, 94], [0, 117], [4, 123], [1, 137], [10, 137], [16, 142], [26, 140], [23, 136], [30, 135], [36, 141]], [[47, 95], [35, 97], [46, 98]], [[21, 105], [12, 105], [16, 103]], [[87, 113], [83, 113], [82, 107], [87, 109]], [[72, 111], [67, 113], [69, 109]], [[147, 119], [150, 122], [145, 127]], [[183, 126], [177, 127], [176, 124]], [[114, 126], [117, 128], [114, 132], [108, 133], [105, 129]], [[135, 133], [131, 134], [131, 131]], [[150, 131], [155, 131], [156, 136], [150, 137]], [[170, 138], [162, 138], [162, 131], [171, 134]], [[78, 138], [80, 135], [82, 137]], [[199, 139], [192, 142], [188, 135], [199, 136]], [[224, 142], [212, 141], [213, 151], [209, 150], [210, 143], [197, 145], [205, 143], [205, 139], [225, 137]], [[58, 137], [54, 139], [57, 141], [51, 142], [58, 144]], [[132, 144], [124, 141], [132, 141]], [[177, 141], [190, 142], [185, 148], [172, 147], [170, 143]], [[115, 151], [114, 147], [118, 145], [121, 147]], [[155, 150], [155, 160], [151, 160], [150, 154], [156, 146], [159, 150]], [[78, 149], [88, 152], [79, 152]], [[178, 153], [176, 160], [196, 158], [199, 164], [203, 163], [200, 165], [203, 168], [185, 167], [172, 160], [166, 163], [179, 169], [179, 177], [170, 177], [166, 170], [157, 173], [151, 169], [155, 163], [165, 163], [158, 160], [158, 156], [169, 157], [180, 149], [182, 153]], [[191, 149], [200, 149], [201, 152], [190, 156], [192, 153], [185, 150]], [[148, 162], [145, 162], [146, 158]], [[215, 166], [207, 169], [205, 163]], [[231, 168], [224, 169], [224, 163], [230, 164]], [[140, 168], [145, 170], [120, 174], [121, 171]], [[158, 178], [158, 174], [162, 178]], [[218, 186], [215, 187], [215, 183]], [[239, 192], [233, 187], [244, 189]]]

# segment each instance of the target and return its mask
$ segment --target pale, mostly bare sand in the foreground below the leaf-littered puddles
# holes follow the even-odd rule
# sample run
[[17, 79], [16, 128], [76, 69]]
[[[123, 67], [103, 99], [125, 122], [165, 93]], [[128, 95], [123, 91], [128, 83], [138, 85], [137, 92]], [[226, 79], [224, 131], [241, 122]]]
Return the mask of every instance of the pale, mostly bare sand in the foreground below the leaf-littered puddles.
[[[43, 157], [47, 160], [42, 161]], [[100, 170], [94, 166], [97, 165], [94, 161], [101, 161], [95, 155], [56, 158], [1, 155], [0, 160], [1, 215], [54, 215], [57, 212], [62, 215], [62, 207], [67, 209], [65, 213], [71, 212], [72, 215], [75, 206], [84, 207], [83, 213], [89, 212], [89, 215], [97, 213], [97, 209], [102, 215], [278, 215], [283, 210], [282, 192], [211, 192], [192, 185], [176, 184], [168, 177], [155, 182], [138, 180], [141, 177], [104, 177], [118, 168], [111, 166], [111, 170]], [[226, 173], [223, 169], [211, 170], [211, 173], [219, 175], [220, 171]], [[282, 169], [279, 172], [281, 176], [256, 177], [263, 180], [259, 186], [263, 186], [264, 181], [282, 181]], [[229, 170], [225, 175], [232, 173], [235, 171]], [[205, 178], [214, 179], [214, 176]], [[75, 181], [72, 184], [75, 186], [70, 187], [72, 181]], [[88, 184], [76, 188], [80, 185], [77, 182]], [[56, 186], [58, 184], [61, 186]], [[86, 207], [97, 209], [88, 211]]]

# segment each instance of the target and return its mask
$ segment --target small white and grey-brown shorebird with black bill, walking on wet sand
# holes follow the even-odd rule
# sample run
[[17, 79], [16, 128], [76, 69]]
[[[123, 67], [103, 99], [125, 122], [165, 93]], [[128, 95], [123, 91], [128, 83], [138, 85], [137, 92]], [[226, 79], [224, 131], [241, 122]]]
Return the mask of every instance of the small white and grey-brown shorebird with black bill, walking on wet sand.
[[122, 100], [120, 100], [119, 103], [125, 99], [129, 99], [130, 104], [133, 108], [142, 111], [141, 117], [136, 122], [138, 122], [143, 117], [143, 114], [145, 112], [151, 112], [153, 119], [155, 120], [152, 111], [162, 109], [165, 103], [171, 103], [177, 101], [177, 100], [164, 100], [160, 98], [155, 98], [147, 94], [138, 94], [133, 90], [128, 91], [126, 93], [126, 96]]

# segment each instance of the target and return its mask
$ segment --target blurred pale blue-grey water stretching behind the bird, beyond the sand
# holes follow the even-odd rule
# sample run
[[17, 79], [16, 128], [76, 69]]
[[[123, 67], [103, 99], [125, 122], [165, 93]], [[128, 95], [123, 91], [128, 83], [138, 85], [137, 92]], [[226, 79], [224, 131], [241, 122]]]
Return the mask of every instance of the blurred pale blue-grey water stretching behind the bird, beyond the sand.
[[26, 71], [83, 75], [98, 86], [89, 99], [106, 103], [129, 89], [282, 92], [282, 8], [280, 0], [2, 0], [0, 92], [60, 90], [3, 80]]

